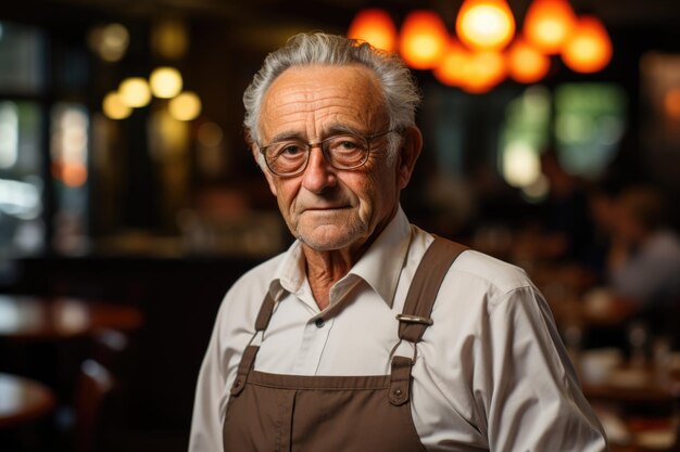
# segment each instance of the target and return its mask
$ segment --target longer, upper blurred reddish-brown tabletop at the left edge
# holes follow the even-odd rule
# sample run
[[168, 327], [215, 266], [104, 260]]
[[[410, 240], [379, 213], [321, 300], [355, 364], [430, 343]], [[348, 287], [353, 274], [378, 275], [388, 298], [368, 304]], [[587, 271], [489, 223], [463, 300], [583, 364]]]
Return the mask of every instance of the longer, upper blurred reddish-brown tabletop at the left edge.
[[142, 314], [130, 306], [77, 298], [0, 295], [0, 337], [48, 340], [87, 336], [104, 328], [131, 331]]

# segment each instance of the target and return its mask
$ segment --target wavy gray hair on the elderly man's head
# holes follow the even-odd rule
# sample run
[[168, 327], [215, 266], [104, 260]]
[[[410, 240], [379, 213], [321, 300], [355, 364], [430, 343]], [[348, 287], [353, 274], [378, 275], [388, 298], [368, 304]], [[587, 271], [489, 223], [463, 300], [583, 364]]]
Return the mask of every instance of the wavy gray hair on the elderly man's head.
[[[415, 111], [420, 93], [411, 70], [393, 53], [378, 50], [367, 42], [324, 33], [299, 34], [281, 49], [269, 53], [243, 93], [243, 126], [249, 139], [260, 143], [260, 108], [262, 100], [279, 75], [292, 66], [361, 64], [374, 72], [386, 100], [390, 130], [415, 125]], [[390, 134], [390, 155], [396, 154], [401, 137]], [[392, 159], [392, 158], [391, 158]], [[262, 162], [260, 163], [262, 166]]]

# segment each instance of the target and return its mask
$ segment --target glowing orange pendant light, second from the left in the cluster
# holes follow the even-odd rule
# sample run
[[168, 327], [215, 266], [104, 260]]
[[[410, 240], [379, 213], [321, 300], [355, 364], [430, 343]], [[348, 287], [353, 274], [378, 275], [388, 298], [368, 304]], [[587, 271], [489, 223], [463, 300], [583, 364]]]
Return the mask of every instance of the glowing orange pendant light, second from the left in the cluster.
[[414, 69], [431, 69], [439, 64], [449, 39], [439, 15], [428, 10], [416, 10], [404, 20], [399, 51]]

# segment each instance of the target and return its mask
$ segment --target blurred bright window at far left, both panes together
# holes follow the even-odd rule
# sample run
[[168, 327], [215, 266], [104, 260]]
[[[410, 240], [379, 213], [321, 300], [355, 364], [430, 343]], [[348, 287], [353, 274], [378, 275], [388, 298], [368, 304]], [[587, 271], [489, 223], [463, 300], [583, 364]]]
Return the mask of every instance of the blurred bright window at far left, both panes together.
[[87, 248], [90, 116], [80, 103], [60, 102], [78, 99], [87, 79], [84, 47], [0, 22], [0, 258], [43, 251], [50, 227], [58, 251]]

